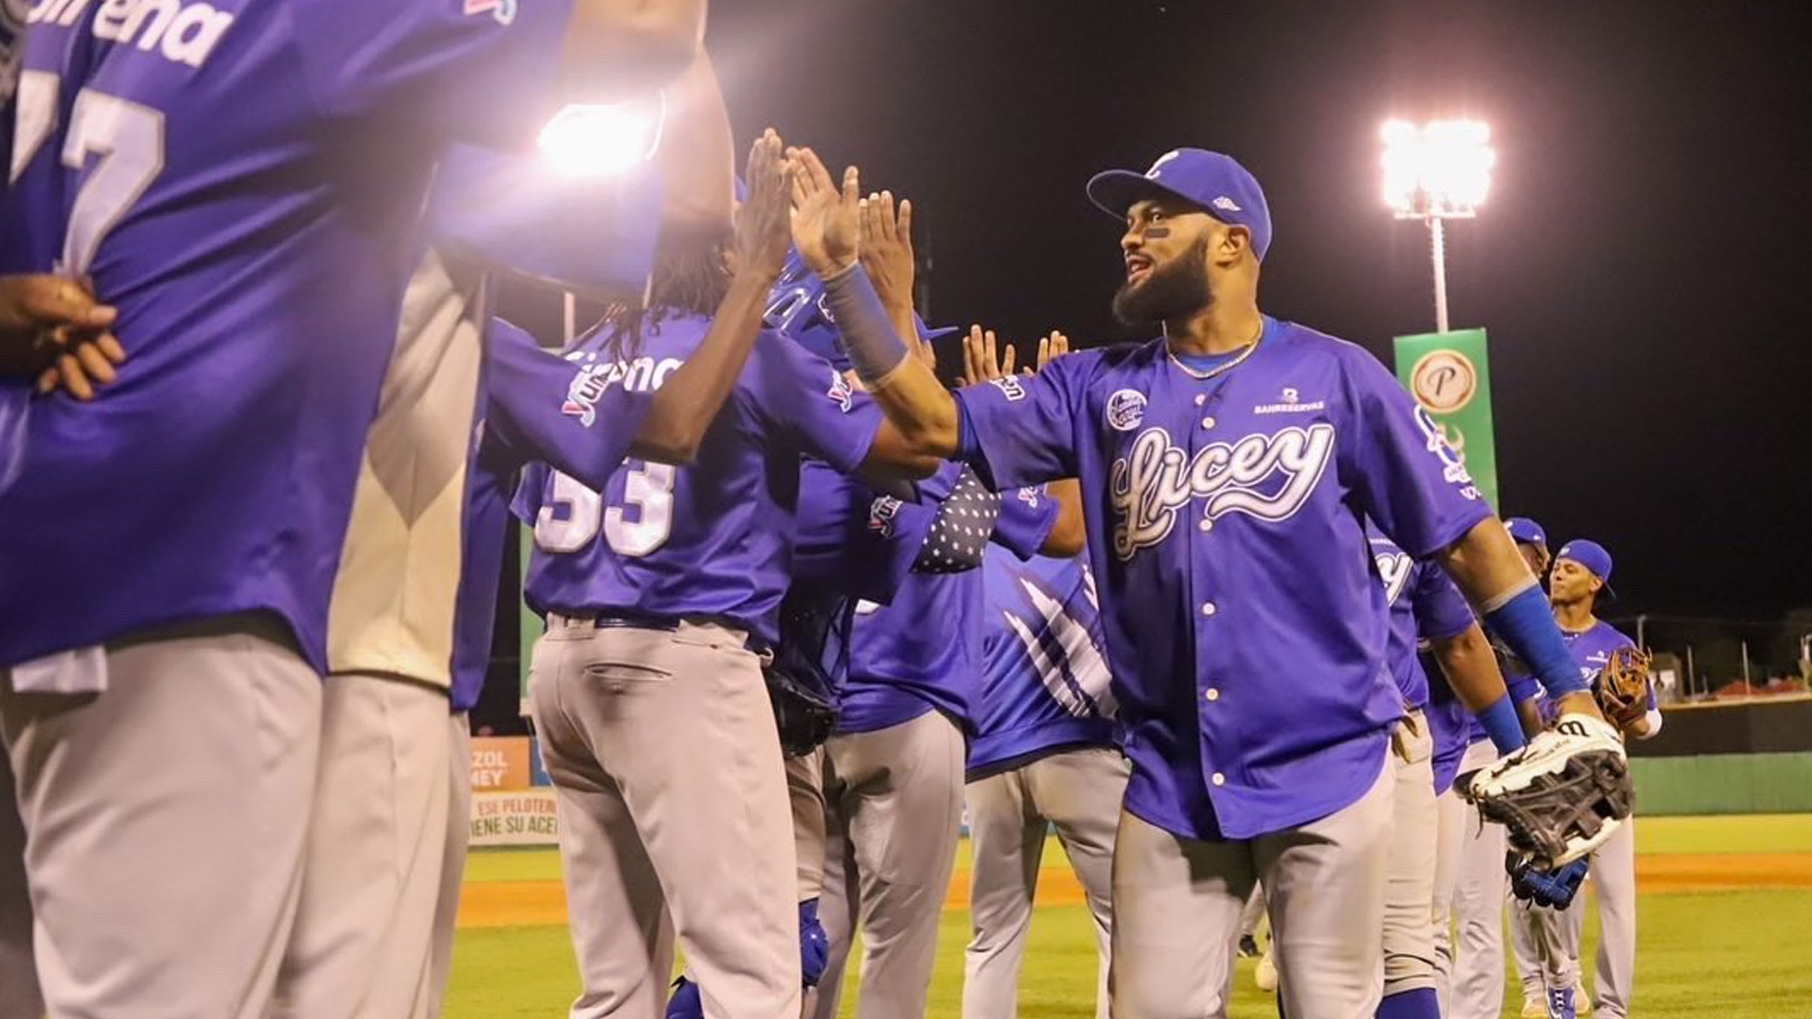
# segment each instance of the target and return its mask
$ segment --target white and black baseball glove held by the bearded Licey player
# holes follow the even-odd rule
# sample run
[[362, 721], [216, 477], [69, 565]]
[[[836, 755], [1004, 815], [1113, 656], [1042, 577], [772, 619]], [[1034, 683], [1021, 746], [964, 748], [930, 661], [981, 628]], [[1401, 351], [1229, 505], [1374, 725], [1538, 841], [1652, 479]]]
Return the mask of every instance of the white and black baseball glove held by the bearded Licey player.
[[1509, 829], [1509, 850], [1557, 870], [1611, 838], [1634, 805], [1624, 740], [1589, 714], [1562, 714], [1528, 747], [1479, 769], [1466, 785], [1479, 816]]

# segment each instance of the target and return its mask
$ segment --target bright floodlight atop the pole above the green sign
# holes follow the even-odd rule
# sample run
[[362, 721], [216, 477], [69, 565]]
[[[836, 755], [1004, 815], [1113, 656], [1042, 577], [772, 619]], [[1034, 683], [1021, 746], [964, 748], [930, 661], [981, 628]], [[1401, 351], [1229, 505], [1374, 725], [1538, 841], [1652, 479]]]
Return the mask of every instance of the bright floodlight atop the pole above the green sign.
[[1384, 123], [1384, 201], [1402, 219], [1471, 218], [1491, 190], [1491, 129], [1477, 120]]

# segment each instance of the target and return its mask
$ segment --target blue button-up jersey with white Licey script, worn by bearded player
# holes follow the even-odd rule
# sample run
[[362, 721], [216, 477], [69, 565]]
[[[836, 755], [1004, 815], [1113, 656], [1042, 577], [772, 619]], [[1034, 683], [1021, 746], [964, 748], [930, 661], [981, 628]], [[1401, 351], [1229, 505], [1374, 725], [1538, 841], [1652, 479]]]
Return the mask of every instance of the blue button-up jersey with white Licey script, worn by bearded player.
[[1428, 557], [1491, 515], [1375, 357], [1267, 317], [1210, 377], [1158, 339], [959, 399], [997, 486], [1082, 479], [1127, 810], [1252, 838], [1372, 787], [1402, 698], [1363, 520]]

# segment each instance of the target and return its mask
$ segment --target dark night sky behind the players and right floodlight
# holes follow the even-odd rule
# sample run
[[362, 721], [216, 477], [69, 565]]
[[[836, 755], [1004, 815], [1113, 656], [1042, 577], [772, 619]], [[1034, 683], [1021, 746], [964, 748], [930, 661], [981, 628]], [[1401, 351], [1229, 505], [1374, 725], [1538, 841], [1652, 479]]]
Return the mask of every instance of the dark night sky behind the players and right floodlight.
[[1390, 352], [1433, 328], [1428, 234], [1379, 198], [1388, 116], [1499, 149], [1450, 232], [1491, 332], [1509, 513], [1618, 557], [1629, 611], [1812, 604], [1812, 34], [1796, 4], [719, 0], [763, 125], [920, 210], [935, 325], [1120, 339], [1116, 225], [1082, 185], [1178, 145], [1263, 183], [1263, 306]]

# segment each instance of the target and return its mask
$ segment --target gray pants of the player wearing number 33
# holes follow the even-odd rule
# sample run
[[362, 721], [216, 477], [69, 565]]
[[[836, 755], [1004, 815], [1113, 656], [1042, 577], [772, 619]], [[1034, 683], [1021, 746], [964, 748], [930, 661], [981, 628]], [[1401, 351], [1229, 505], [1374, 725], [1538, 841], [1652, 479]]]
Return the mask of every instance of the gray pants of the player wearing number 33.
[[571, 1017], [660, 1017], [678, 937], [707, 1015], [799, 1019], [786, 776], [745, 635], [554, 615], [531, 676], [583, 985]]

